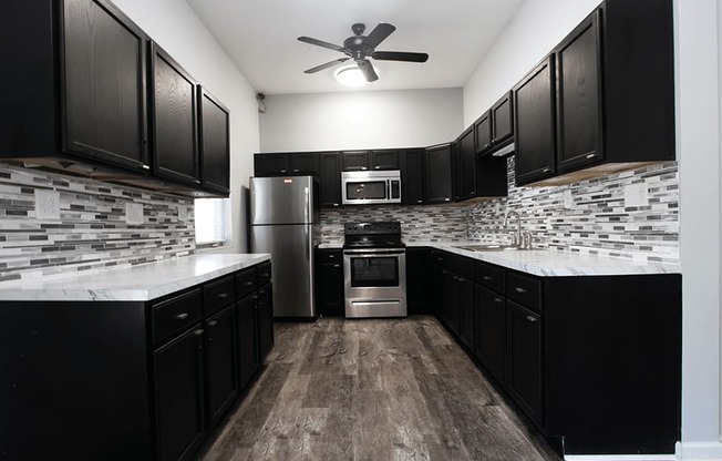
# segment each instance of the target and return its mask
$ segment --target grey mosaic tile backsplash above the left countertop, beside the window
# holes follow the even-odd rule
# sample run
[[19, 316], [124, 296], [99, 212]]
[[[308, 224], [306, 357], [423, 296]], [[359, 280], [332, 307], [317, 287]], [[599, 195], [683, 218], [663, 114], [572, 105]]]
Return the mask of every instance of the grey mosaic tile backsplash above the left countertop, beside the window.
[[0, 163], [0, 281], [195, 253], [192, 199]]

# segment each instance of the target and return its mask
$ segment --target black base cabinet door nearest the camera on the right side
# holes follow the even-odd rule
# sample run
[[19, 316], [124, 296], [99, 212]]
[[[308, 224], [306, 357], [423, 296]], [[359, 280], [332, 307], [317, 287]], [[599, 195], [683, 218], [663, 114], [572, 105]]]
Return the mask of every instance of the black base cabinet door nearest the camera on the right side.
[[536, 423], [542, 410], [540, 317], [514, 301], [507, 305], [507, 376], [509, 393]]

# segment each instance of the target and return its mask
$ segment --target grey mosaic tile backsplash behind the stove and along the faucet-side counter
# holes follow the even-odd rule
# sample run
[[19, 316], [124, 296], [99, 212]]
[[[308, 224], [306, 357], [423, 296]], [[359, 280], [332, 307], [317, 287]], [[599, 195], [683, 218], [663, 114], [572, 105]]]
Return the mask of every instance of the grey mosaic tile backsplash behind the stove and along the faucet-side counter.
[[323, 242], [342, 242], [343, 224], [400, 221], [404, 242], [509, 243], [503, 226], [515, 209], [534, 246], [631, 260], [679, 264], [679, 175], [675, 162], [554, 187], [516, 187], [507, 163], [505, 198], [452, 206], [345, 207], [321, 212]]

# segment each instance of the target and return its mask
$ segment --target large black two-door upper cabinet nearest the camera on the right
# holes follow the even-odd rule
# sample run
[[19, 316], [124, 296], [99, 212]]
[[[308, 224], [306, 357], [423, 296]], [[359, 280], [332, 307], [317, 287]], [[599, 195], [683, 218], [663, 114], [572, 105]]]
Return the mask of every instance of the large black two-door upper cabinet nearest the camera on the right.
[[515, 86], [514, 107], [518, 185], [674, 160], [671, 1], [605, 1]]

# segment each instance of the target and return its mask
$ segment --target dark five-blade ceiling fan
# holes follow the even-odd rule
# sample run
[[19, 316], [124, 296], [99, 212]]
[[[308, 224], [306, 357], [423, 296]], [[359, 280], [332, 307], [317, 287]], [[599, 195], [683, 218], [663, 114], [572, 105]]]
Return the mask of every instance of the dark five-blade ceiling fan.
[[379, 61], [405, 61], [405, 62], [426, 62], [429, 54], [426, 53], [411, 53], [403, 51], [375, 51], [375, 48], [391, 35], [391, 33], [396, 30], [395, 27], [381, 22], [369, 33], [364, 35], [367, 27], [362, 23], [355, 23], [351, 25], [353, 35], [349, 37], [343, 41], [343, 47], [338, 44], [324, 42], [322, 40], [312, 39], [310, 37], [299, 37], [298, 40], [305, 43], [314, 44], [317, 47], [328, 48], [329, 50], [340, 51], [345, 54], [348, 58], [339, 58], [333, 61], [329, 61], [324, 64], [317, 65], [306, 70], [306, 73], [316, 73], [324, 69], [332, 68], [333, 65], [345, 62], [350, 59], [355, 61], [357, 65], [363, 73], [367, 82], [374, 82], [379, 80], [379, 75], [373, 70], [373, 65], [368, 60], [372, 58]]

